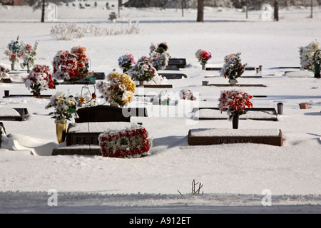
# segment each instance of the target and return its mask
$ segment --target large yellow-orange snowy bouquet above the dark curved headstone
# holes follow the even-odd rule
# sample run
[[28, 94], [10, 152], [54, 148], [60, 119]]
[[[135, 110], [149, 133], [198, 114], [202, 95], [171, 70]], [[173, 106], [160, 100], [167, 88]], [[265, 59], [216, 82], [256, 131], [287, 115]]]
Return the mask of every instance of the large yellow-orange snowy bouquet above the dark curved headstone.
[[108, 103], [120, 107], [128, 105], [135, 93], [135, 83], [131, 77], [116, 71], [109, 73], [107, 82], [98, 81], [96, 87]]

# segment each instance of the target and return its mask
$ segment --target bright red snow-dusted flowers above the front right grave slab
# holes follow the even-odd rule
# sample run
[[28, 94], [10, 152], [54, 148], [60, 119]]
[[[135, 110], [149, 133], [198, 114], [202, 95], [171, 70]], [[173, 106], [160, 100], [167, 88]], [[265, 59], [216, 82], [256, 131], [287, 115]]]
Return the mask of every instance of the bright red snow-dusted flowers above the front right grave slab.
[[237, 115], [246, 114], [245, 106], [253, 108], [251, 98], [253, 97], [243, 90], [223, 90], [218, 99], [218, 108], [220, 108], [220, 113], [227, 108], [228, 120], [233, 120]]

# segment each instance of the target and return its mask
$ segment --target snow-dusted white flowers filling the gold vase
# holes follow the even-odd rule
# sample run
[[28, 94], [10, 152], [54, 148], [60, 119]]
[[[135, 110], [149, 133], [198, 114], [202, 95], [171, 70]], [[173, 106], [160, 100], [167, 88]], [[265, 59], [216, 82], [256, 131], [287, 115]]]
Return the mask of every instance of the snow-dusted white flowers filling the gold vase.
[[56, 119], [56, 122], [78, 118], [75, 98], [73, 98], [73, 95], [66, 96], [61, 91], [51, 96], [49, 104], [45, 108], [55, 108], [55, 111], [49, 113], [49, 115], [54, 114], [52, 118]]

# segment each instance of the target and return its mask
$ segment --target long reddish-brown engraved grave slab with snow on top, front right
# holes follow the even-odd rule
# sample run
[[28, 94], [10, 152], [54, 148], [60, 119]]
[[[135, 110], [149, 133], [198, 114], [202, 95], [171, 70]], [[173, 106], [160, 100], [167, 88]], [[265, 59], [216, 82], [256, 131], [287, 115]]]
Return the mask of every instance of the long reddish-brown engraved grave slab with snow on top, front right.
[[282, 146], [280, 129], [190, 129], [188, 145], [259, 143]]

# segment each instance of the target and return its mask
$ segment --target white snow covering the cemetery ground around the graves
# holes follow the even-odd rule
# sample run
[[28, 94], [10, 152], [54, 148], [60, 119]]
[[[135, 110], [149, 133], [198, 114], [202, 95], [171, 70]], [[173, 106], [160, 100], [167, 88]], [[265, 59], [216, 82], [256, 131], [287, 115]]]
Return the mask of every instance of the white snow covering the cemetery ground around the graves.
[[[92, 1], [88, 1], [93, 6]], [[109, 4], [116, 1], [109, 1]], [[260, 11], [250, 11], [249, 19], [236, 9], [205, 8], [205, 23], [196, 23], [196, 10], [121, 9], [121, 18], [108, 21], [111, 11], [98, 7], [79, 9], [58, 6], [58, 21], [41, 24], [40, 11], [27, 6], [0, 6], [0, 53], [19, 35], [25, 43], [40, 40], [36, 63], [51, 66], [59, 50], [85, 46], [91, 70], [106, 75], [118, 68], [118, 58], [132, 53], [136, 61], [149, 53], [151, 43], [167, 42], [172, 58], [186, 58], [188, 67], [179, 73], [188, 78], [168, 80], [178, 94], [189, 88], [198, 98], [178, 105], [152, 105], [136, 98], [129, 107], [148, 108], [148, 118], [131, 118], [143, 123], [153, 137], [151, 155], [139, 159], [100, 156], [51, 156], [57, 147], [54, 120], [44, 107], [48, 99], [16, 96], [0, 98], [2, 108], [28, 108], [26, 121], [2, 121], [6, 136], [0, 149], [1, 213], [235, 213], [292, 212], [320, 213], [320, 117], [321, 81], [313, 74], [291, 73], [300, 65], [298, 47], [320, 38], [321, 9], [280, 9], [280, 21], [262, 21]], [[72, 9], [72, 11], [71, 11]], [[117, 11], [117, 9], [114, 9]], [[52, 26], [74, 22], [78, 26], [121, 29], [128, 20], [139, 21], [142, 33], [136, 35], [86, 35], [77, 41], [57, 41], [50, 35]], [[247, 87], [254, 97], [254, 108], [276, 108], [283, 103], [278, 121], [240, 120], [240, 129], [280, 129], [282, 147], [260, 144], [188, 145], [188, 131], [198, 128], [231, 129], [228, 120], [192, 120], [193, 107], [218, 106], [220, 90], [202, 86], [228, 83], [218, 71], [202, 71], [195, 51], [212, 53], [208, 67], [223, 66], [227, 54], [241, 52], [248, 66], [263, 66], [262, 78], [238, 78], [241, 84], [264, 84], [266, 88]], [[10, 62], [0, 54], [1, 65]], [[289, 69], [279, 68], [289, 67]], [[296, 70], [298, 71], [298, 70]], [[167, 72], [166, 72], [167, 73]], [[245, 71], [244, 76], [254, 76]], [[13, 83], [0, 84], [0, 93], [29, 95], [22, 83], [26, 73], [10, 74]], [[56, 90], [76, 94], [81, 85], [59, 85]], [[88, 86], [93, 90], [93, 86]], [[140, 88], [136, 94], [160, 94], [161, 88]], [[46, 90], [43, 95], [56, 91]], [[174, 99], [175, 100], [175, 99]], [[300, 103], [309, 103], [301, 110]], [[103, 104], [103, 100], [99, 101]], [[163, 112], [163, 108], [168, 113]], [[162, 110], [162, 111], [161, 111]], [[172, 113], [173, 112], [173, 113]], [[174, 114], [174, 115], [172, 115]], [[225, 115], [223, 113], [222, 115]], [[191, 195], [191, 182], [202, 182], [204, 195]], [[47, 204], [49, 190], [58, 192], [58, 207]], [[178, 190], [182, 193], [180, 195]], [[263, 190], [270, 190], [272, 207], [263, 207]]]

